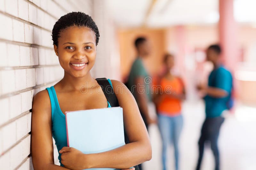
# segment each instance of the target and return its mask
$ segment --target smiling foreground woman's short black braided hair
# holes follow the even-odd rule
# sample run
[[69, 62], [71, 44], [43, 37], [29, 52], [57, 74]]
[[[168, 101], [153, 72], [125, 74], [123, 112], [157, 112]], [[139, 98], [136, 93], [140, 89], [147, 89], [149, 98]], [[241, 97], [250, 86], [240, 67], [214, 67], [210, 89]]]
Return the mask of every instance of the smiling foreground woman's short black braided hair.
[[53, 45], [58, 46], [58, 38], [60, 37], [61, 31], [74, 25], [90, 28], [95, 33], [97, 46], [100, 37], [98, 27], [92, 20], [92, 17], [83, 12], [70, 12], [60, 17], [60, 19], [54, 24], [52, 29]]

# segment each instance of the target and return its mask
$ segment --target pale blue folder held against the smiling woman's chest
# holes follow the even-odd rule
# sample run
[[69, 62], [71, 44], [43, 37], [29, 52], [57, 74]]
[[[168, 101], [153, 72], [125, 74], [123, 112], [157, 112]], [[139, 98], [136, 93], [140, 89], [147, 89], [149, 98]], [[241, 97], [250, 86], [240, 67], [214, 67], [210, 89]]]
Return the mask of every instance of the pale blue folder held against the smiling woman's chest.
[[69, 147], [88, 154], [105, 152], [125, 145], [123, 108], [68, 111], [65, 114]]

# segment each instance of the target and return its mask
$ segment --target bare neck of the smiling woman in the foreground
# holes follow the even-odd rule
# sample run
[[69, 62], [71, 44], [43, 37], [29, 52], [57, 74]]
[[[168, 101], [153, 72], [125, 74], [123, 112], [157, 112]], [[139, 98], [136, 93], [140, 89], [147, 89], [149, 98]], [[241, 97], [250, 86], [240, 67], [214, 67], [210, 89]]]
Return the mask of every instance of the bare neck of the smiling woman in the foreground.
[[62, 89], [66, 90], [76, 90], [79, 91], [81, 88], [90, 88], [97, 86], [97, 81], [92, 77], [90, 72], [84, 77], [73, 77], [70, 74], [64, 72], [63, 79], [60, 80], [60, 86]]

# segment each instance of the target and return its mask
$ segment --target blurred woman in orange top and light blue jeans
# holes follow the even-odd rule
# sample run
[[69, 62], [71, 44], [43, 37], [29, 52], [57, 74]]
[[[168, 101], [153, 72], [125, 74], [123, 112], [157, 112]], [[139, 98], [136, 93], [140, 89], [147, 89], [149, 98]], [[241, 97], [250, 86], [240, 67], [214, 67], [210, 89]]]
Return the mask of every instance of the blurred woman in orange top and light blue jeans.
[[[181, 100], [185, 99], [183, 82], [174, 76], [170, 70], [174, 66], [174, 57], [171, 54], [164, 56], [165, 74], [160, 78], [154, 101], [157, 106], [159, 130], [163, 142], [163, 170], [166, 170], [166, 151], [168, 144], [173, 143], [175, 152], [175, 168], [179, 169], [178, 141], [183, 125], [181, 115]], [[158, 86], [159, 87], [159, 86]]]

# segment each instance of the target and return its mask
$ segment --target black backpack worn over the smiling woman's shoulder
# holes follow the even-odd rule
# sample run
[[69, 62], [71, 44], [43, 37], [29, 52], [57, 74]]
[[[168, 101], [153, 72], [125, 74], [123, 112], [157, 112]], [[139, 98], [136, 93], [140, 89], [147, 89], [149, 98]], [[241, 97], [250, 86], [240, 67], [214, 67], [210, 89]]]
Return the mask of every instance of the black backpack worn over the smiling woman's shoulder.
[[[116, 94], [114, 93], [114, 90], [112, 86], [109, 84], [108, 80], [106, 78], [97, 78], [96, 81], [101, 86], [101, 89], [104, 92], [104, 95], [106, 96], [111, 107], [119, 107]], [[130, 143], [125, 129], [124, 129], [124, 141], [125, 141], [125, 144]], [[135, 167], [135, 170], [140, 170], [138, 165], [134, 167]]]

